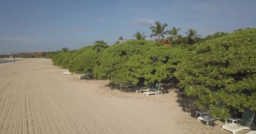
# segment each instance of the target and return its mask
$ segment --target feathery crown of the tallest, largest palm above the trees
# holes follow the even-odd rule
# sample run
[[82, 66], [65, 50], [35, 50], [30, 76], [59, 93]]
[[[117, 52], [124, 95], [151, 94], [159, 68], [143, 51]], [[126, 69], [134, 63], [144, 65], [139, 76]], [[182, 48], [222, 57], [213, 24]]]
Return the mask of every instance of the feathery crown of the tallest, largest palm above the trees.
[[168, 26], [168, 24], [157, 21], [155, 22], [156, 26], [151, 26], [149, 29], [152, 30], [152, 34], [150, 35], [150, 38], [152, 37], [158, 37], [157, 41], [160, 41], [160, 37], [165, 38], [163, 35], [168, 33], [169, 31], [165, 31], [165, 28]]

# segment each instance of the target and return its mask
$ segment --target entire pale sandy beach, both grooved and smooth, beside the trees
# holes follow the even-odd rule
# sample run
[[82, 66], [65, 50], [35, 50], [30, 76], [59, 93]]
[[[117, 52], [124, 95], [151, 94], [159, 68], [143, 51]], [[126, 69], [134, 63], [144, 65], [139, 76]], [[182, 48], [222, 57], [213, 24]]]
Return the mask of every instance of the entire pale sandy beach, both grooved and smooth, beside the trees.
[[66, 70], [51, 59], [0, 64], [0, 134], [231, 134], [197, 121], [175, 88], [146, 96]]

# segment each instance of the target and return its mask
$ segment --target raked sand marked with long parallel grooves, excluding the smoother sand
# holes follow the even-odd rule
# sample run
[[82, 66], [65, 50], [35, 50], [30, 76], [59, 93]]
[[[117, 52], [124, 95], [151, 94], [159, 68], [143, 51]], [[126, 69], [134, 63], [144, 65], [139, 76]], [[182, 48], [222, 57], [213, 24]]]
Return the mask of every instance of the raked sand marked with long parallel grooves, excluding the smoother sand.
[[0, 66], [0, 134], [175, 134], [180, 131], [176, 124], [167, 123], [166, 112], [156, 106], [123, 98], [103, 98], [92, 92], [99, 85], [69, 81], [70, 76], [57, 68], [49, 59]]

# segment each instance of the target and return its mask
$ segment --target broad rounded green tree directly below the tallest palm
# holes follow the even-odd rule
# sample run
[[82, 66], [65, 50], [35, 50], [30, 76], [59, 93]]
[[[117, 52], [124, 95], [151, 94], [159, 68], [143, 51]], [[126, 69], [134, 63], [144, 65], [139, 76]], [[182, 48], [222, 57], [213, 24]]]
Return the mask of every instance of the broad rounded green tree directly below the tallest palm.
[[177, 64], [188, 56], [186, 49], [157, 46], [152, 41], [126, 41], [102, 53], [94, 75], [116, 83], [160, 82], [173, 77]]

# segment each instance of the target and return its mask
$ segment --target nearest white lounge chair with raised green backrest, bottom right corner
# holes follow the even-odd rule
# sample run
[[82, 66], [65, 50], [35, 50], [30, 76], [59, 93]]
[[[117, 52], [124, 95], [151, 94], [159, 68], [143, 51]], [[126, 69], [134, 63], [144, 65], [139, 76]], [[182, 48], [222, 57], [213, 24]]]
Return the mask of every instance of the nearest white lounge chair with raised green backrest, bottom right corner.
[[235, 134], [235, 132], [237, 131], [241, 131], [244, 129], [251, 129], [253, 126], [255, 126], [253, 124], [254, 115], [255, 115], [255, 111], [245, 109], [245, 112], [243, 113], [240, 121], [238, 121], [237, 123], [224, 125], [221, 127], [221, 130], [225, 129], [227, 131], [231, 131], [232, 134]]

